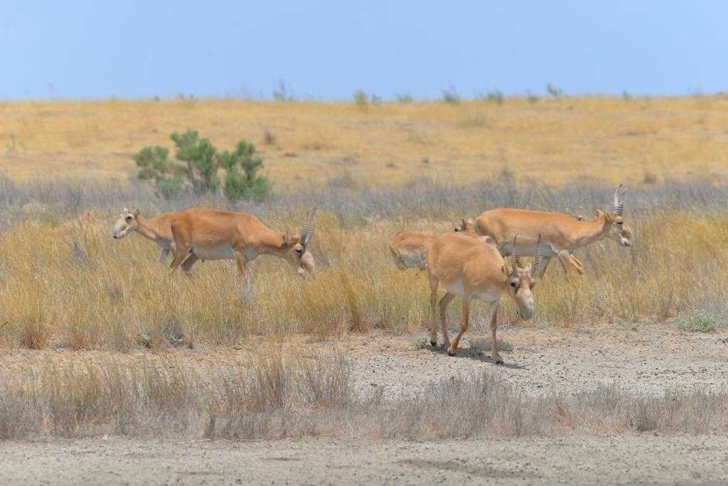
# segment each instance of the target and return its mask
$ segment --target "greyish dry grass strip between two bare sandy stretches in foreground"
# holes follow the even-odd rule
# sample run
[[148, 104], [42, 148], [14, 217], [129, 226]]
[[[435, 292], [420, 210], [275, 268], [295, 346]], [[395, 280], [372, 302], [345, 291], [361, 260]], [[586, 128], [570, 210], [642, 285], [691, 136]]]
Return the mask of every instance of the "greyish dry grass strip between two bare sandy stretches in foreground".
[[[0, 375], [0, 439], [122, 434], [196, 439], [356, 440], [725, 433], [728, 391], [650, 396], [597, 385], [528, 397], [496, 375], [444, 378], [418, 397], [356, 393], [344, 359], [266, 349], [245, 367], [207, 371], [181, 358], [88, 359], [77, 373]], [[427, 420], [436, 417], [437, 420]]]

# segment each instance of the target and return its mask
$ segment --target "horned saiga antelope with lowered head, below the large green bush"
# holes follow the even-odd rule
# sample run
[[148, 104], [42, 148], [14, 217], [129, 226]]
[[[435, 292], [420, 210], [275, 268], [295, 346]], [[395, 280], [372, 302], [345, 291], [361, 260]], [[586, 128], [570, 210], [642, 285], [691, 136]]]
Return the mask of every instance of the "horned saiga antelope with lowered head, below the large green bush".
[[184, 262], [183, 271], [190, 274], [200, 258], [234, 259], [242, 279], [246, 263], [258, 255], [273, 255], [288, 261], [299, 276], [312, 274], [316, 265], [309, 243], [314, 236], [314, 212], [310, 210], [306, 215], [301, 236], [286, 236], [248, 212], [199, 208], [178, 212], [171, 221], [175, 258], [170, 268], [175, 271]]

